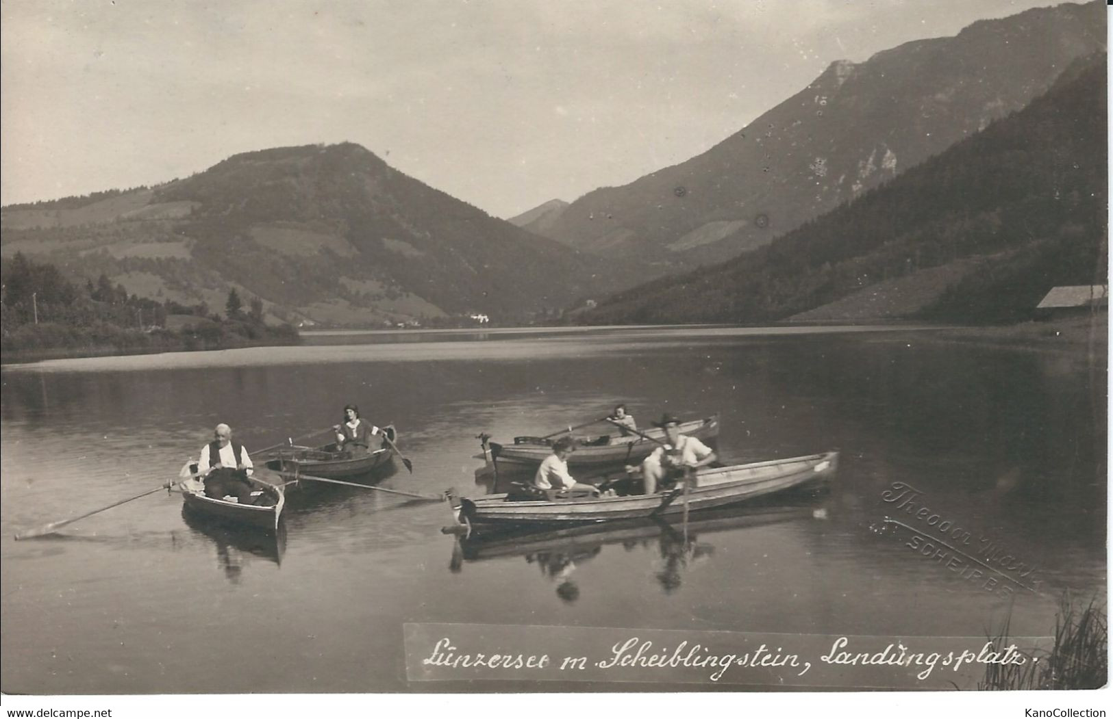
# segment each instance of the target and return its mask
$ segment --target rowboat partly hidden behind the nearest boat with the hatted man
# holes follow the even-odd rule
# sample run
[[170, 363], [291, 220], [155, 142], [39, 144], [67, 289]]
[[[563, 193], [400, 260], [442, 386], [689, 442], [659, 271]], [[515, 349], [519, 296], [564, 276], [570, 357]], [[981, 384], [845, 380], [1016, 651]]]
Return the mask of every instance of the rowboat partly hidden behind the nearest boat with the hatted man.
[[[611, 428], [609, 435], [592, 436], [589, 438], [578, 438], [575, 451], [568, 459], [568, 466], [572, 468], [592, 468], [604, 465], [636, 463], [649, 457], [657, 447], [656, 440], [664, 440], [664, 430], [657, 427], [643, 430], [644, 437], [632, 435], [622, 437], [617, 428]], [[697, 419], [680, 425], [680, 433], [695, 437], [700, 441], [715, 439], [719, 436], [719, 416], [712, 415], [705, 419]], [[552, 438], [538, 437], [515, 437], [513, 445], [500, 445], [491, 442], [491, 457], [494, 461], [502, 463], [538, 466], [545, 457], [552, 455]], [[651, 438], [651, 439], [647, 439]], [[480, 459], [484, 456], [481, 455]]]

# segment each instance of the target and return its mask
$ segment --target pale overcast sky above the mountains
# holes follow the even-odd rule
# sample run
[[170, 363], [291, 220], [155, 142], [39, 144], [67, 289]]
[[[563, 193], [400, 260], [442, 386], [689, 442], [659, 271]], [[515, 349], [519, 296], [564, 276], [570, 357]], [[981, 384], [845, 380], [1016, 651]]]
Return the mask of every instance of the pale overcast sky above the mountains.
[[1031, 0], [0, 0], [0, 202], [358, 142], [491, 214], [708, 149], [837, 59]]

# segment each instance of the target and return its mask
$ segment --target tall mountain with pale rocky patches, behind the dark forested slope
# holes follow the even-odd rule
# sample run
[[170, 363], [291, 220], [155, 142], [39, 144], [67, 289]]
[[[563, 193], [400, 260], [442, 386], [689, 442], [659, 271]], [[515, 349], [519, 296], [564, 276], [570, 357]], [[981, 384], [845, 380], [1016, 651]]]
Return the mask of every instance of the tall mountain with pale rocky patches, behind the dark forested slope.
[[1096, 2], [983, 20], [855, 64], [837, 61], [741, 131], [680, 164], [589, 192], [540, 231], [658, 272], [768, 243], [1026, 106], [1105, 47]]

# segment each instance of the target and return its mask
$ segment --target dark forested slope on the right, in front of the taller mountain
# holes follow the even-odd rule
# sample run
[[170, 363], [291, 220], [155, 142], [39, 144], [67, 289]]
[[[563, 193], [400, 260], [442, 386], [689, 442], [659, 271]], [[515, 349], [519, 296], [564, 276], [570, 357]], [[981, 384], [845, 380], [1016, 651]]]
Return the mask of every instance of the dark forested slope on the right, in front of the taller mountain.
[[1027, 108], [771, 244], [604, 299], [579, 321], [1013, 321], [1107, 273], [1106, 56]]

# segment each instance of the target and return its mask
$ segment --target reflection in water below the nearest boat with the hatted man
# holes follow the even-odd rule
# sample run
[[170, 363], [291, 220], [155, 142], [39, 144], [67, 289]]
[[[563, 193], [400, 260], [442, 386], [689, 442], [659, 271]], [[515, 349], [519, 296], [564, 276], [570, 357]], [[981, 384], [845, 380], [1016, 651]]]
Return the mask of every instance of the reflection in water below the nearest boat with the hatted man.
[[666, 593], [683, 583], [686, 571], [705, 563], [715, 555], [708, 536], [768, 527], [780, 522], [808, 521], [817, 517], [812, 498], [801, 497], [786, 506], [784, 501], [709, 509], [682, 516], [630, 519], [579, 525], [559, 529], [513, 529], [456, 538], [449, 569], [463, 571], [469, 562], [506, 557], [522, 557], [535, 565], [541, 576], [556, 585], [556, 596], [565, 602], [580, 597], [574, 579], [579, 567], [598, 557], [607, 546], [619, 545], [626, 551], [643, 549], [653, 556], [653, 577]]

